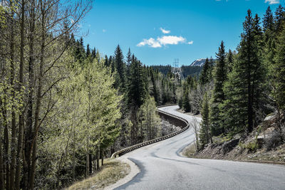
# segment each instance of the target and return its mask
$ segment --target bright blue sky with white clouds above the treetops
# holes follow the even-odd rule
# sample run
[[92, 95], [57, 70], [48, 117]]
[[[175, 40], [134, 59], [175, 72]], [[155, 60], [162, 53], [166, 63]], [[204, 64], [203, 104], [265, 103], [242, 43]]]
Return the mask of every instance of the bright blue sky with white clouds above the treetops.
[[198, 58], [214, 58], [223, 40], [237, 48], [242, 22], [251, 9], [263, 17], [285, 0], [95, 0], [81, 23], [84, 43], [102, 56], [113, 55], [120, 44], [145, 65], [189, 65]]

